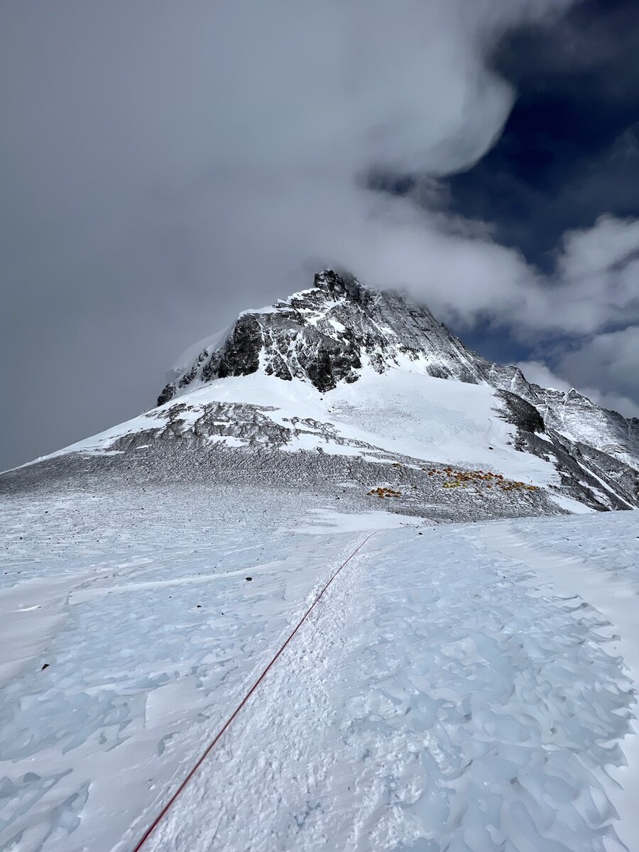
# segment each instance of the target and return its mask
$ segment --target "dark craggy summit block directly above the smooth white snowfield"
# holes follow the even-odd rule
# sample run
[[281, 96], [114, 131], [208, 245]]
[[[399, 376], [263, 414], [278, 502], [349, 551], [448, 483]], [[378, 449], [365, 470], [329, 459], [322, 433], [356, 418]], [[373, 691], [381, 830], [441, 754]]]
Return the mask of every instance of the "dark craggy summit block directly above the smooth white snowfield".
[[240, 314], [222, 341], [205, 347], [172, 377], [158, 405], [217, 378], [256, 371], [286, 381], [300, 378], [322, 392], [357, 381], [364, 364], [380, 373], [402, 366], [479, 383], [484, 376], [476, 360], [427, 308], [325, 269], [315, 275], [313, 288]]

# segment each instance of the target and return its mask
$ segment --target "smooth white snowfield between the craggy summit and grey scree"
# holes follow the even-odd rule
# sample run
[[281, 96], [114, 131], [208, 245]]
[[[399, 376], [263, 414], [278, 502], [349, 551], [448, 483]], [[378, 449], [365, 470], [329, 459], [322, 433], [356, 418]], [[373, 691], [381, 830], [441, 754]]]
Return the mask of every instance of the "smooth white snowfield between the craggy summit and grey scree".
[[[256, 406], [281, 429], [291, 432], [294, 420], [326, 424], [344, 442], [331, 444], [320, 429], [309, 425], [303, 438], [291, 434], [283, 441], [290, 452], [319, 446], [325, 452], [340, 452], [339, 446], [351, 444], [353, 452], [366, 454], [376, 446], [442, 463], [470, 467], [492, 463], [493, 469], [511, 478], [526, 475], [527, 481], [559, 482], [550, 463], [515, 451], [515, 429], [499, 417], [498, 400], [487, 385], [451, 382], [401, 369], [389, 369], [382, 375], [369, 370], [363, 371], [358, 383], [341, 384], [330, 394], [321, 394], [299, 379], [283, 382], [255, 373], [218, 379], [181, 396], [181, 404], [187, 406], [181, 411], [184, 427], [193, 426], [206, 407], [216, 402]], [[167, 403], [54, 455], [112, 449], [119, 438], [157, 428], [158, 419], [174, 405]], [[237, 440], [240, 446], [249, 446], [249, 440]], [[358, 448], [357, 442], [364, 446]]]

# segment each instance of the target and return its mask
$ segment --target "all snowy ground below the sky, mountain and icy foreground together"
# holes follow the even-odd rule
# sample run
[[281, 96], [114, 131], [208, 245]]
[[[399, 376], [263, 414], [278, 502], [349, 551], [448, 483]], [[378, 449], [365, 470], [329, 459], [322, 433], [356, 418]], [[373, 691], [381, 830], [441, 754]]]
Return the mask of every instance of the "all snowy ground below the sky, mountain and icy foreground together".
[[636, 423], [316, 284], [0, 476], [0, 849], [133, 849], [364, 531], [149, 849], [634, 849]]

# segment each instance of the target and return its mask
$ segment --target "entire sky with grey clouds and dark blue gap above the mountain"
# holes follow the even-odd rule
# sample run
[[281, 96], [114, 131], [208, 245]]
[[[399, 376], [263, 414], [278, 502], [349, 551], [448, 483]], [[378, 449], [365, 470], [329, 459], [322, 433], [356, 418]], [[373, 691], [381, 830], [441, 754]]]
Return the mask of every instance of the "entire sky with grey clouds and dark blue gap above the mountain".
[[350, 268], [639, 416], [636, 0], [3, 0], [0, 469]]

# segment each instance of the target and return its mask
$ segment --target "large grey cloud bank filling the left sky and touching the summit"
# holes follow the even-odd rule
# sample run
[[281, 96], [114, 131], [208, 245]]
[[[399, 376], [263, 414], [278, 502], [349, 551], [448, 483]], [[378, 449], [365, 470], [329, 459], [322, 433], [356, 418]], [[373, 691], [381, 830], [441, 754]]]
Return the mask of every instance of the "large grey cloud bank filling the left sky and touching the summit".
[[[570, 5], [3, 3], [3, 464], [153, 404], [181, 348], [315, 264], [460, 323], [523, 306], [522, 333], [541, 325], [546, 282], [438, 181], [508, 119], [515, 89], [486, 62], [504, 33]], [[366, 189], [372, 168], [429, 176], [428, 207]], [[604, 224], [624, 250], [630, 223]], [[579, 249], [561, 256], [569, 274]], [[596, 286], [589, 333], [597, 305], [612, 316]]]

